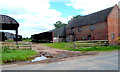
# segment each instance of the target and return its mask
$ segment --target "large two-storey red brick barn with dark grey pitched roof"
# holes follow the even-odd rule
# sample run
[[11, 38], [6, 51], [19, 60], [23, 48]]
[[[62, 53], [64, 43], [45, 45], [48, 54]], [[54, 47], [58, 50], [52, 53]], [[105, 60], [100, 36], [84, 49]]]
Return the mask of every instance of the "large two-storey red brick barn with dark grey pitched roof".
[[108, 40], [118, 45], [120, 37], [120, 9], [118, 5], [68, 22], [66, 40]]

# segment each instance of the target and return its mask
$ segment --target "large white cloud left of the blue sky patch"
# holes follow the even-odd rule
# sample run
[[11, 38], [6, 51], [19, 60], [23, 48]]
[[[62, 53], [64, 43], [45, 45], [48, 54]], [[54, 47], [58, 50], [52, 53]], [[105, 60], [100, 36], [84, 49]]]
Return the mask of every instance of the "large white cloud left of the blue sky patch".
[[24, 37], [53, 29], [58, 20], [67, 23], [60, 12], [49, 8], [49, 0], [0, 0], [0, 11], [20, 23], [19, 34]]

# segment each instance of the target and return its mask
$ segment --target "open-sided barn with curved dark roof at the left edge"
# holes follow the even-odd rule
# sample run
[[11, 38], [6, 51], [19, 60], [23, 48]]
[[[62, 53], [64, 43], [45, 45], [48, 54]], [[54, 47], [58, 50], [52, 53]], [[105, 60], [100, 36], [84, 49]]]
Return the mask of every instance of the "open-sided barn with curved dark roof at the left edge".
[[[12, 17], [0, 14], [0, 30], [15, 30], [14, 40], [18, 41], [18, 27], [19, 23]], [[13, 35], [11, 33], [0, 33], [1, 41], [5, 41], [7, 38], [11, 39]], [[21, 37], [21, 36], [19, 36]], [[3, 39], [2, 39], [3, 38]]]

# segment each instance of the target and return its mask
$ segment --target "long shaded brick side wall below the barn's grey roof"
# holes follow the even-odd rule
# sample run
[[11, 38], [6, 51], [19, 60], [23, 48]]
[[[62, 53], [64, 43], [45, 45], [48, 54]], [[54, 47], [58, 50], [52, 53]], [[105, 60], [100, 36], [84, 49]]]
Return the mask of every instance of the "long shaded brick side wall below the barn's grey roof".
[[[83, 37], [85, 37], [85, 40], [88, 40], [88, 35], [91, 35], [92, 40], [108, 40], [108, 29], [107, 29], [107, 23], [98, 23], [94, 24], [95, 29], [90, 30], [90, 25], [82, 26], [80, 27], [82, 30], [78, 32], [78, 27], [74, 28], [75, 38], [77, 40], [83, 40]], [[66, 36], [68, 36], [70, 32], [70, 29], [66, 30]]]

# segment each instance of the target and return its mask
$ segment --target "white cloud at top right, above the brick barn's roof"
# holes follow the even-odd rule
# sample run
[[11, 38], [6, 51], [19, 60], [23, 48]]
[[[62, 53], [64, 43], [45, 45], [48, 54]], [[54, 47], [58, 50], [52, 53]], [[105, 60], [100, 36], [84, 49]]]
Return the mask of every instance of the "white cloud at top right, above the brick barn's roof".
[[120, 0], [71, 0], [66, 3], [75, 9], [84, 9], [81, 14], [90, 14], [117, 4]]

